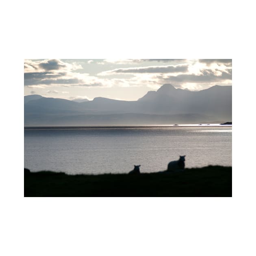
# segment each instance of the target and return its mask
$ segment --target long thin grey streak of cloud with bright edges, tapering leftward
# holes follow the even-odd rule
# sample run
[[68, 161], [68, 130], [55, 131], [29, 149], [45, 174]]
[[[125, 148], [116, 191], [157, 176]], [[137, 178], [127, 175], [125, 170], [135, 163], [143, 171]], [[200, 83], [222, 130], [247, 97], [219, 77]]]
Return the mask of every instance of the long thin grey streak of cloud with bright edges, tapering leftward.
[[117, 68], [100, 72], [98, 75], [107, 76], [112, 74], [133, 74], [133, 73], [178, 73], [187, 72], [188, 65], [168, 65], [168, 66], [149, 66], [149, 67], [128, 67], [128, 68]]

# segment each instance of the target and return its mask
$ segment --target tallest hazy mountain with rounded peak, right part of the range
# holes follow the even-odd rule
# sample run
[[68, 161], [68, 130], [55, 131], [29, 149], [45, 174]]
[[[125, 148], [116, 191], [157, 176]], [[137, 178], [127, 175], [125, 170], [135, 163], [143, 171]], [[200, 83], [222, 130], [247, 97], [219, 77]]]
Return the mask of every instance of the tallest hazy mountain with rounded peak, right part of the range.
[[148, 92], [138, 102], [143, 102], [141, 106], [151, 113], [200, 113], [231, 118], [232, 87], [215, 85], [202, 91], [188, 91], [166, 84], [156, 92]]

